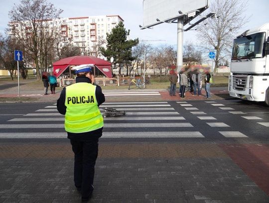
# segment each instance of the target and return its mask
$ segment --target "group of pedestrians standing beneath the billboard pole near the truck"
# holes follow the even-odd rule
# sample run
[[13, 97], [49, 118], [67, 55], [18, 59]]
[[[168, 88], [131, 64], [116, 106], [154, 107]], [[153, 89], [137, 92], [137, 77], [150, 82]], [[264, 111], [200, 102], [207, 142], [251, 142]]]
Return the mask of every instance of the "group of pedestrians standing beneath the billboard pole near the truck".
[[[202, 90], [202, 73], [199, 72], [197, 69], [194, 71], [188, 72], [186, 75], [185, 72], [180, 71], [178, 76], [174, 70], [170, 71], [169, 81], [170, 81], [170, 96], [175, 96], [176, 90], [176, 83], [179, 82], [179, 95], [181, 99], [185, 98], [185, 89], [186, 86], [190, 87], [190, 92], [193, 92], [192, 96], [201, 96]], [[205, 82], [205, 91], [206, 91], [206, 98], [211, 98], [210, 93], [210, 85], [212, 83], [211, 74], [206, 71], [204, 75], [204, 82]]]

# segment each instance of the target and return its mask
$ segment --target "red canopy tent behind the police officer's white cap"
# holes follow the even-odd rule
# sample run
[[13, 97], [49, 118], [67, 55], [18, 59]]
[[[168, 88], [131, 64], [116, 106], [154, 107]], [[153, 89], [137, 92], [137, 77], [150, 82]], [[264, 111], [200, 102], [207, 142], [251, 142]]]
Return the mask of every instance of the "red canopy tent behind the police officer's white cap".
[[69, 65], [94, 64], [108, 78], [112, 78], [111, 63], [94, 56], [71, 56], [53, 63], [53, 74], [59, 77]]

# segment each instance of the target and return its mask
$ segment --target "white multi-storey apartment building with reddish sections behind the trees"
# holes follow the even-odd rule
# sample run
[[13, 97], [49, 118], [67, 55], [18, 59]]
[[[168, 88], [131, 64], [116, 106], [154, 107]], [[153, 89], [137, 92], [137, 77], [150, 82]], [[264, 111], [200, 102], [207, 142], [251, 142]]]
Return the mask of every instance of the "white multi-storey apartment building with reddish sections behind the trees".
[[[44, 26], [47, 29], [55, 26], [60, 29], [63, 36], [62, 43], [67, 43], [70, 39], [74, 45], [80, 47], [81, 51], [86, 55], [92, 53], [94, 55], [96, 44], [100, 39], [106, 39], [106, 33], [110, 33], [120, 21], [124, 21], [119, 15], [97, 15], [85, 17], [66, 17], [58, 19], [44, 20]], [[18, 24], [16, 22], [9, 22], [11, 31], [9, 34], [12, 36], [12, 30], [16, 30]], [[31, 27], [27, 22], [24, 24], [24, 35], [27, 37], [31, 35]], [[29, 30], [29, 31], [27, 31]], [[49, 31], [48, 31], [49, 33]], [[106, 46], [104, 44], [103, 46]], [[101, 58], [104, 58], [101, 56]]]

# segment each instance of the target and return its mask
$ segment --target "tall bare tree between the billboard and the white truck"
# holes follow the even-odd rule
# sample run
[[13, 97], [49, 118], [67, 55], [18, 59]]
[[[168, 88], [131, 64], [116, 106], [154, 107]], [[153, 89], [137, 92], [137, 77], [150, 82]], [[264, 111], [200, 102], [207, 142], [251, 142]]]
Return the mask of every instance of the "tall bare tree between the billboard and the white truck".
[[206, 25], [198, 26], [198, 37], [208, 51], [215, 50], [216, 73], [220, 60], [230, 55], [232, 39], [247, 22], [244, 15], [248, 0], [212, 0], [210, 12], [216, 12], [217, 17], [205, 21]]

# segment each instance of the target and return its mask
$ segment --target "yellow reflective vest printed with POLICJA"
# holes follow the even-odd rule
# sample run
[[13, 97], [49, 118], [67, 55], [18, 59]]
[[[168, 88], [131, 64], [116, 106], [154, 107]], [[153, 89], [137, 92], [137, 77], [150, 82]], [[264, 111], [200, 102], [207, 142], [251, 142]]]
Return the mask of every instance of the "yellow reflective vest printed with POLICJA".
[[65, 89], [65, 130], [70, 133], [85, 133], [102, 128], [104, 120], [96, 100], [96, 86], [79, 82]]

